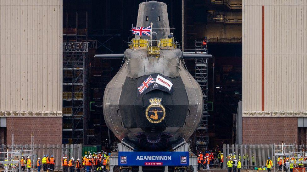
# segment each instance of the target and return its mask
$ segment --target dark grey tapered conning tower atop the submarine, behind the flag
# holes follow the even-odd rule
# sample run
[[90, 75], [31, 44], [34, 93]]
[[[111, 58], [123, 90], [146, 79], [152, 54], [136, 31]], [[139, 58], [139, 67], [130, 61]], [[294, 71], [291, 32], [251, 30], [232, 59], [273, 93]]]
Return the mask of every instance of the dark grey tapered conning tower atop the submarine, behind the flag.
[[[149, 1], [140, 3], [137, 14], [137, 26], [145, 27], [153, 23], [153, 34], [157, 33], [157, 39], [167, 38], [170, 34], [170, 24], [165, 3]], [[155, 33], [154, 33], [155, 32]], [[136, 38], [150, 39], [149, 36], [137, 36]]]

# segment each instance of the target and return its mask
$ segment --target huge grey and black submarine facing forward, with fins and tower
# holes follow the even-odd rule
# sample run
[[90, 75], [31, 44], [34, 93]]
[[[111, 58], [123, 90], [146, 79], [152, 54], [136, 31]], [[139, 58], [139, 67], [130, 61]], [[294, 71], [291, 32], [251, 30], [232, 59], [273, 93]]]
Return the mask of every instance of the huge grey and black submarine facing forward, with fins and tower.
[[[203, 93], [184, 60], [212, 58], [185, 54], [169, 26], [165, 3], [139, 4], [135, 34], [123, 54], [95, 55], [121, 59], [122, 66], [107, 84], [103, 115], [107, 127], [134, 151], [168, 151], [185, 143], [203, 117]], [[147, 29], [147, 30], [146, 30]]]

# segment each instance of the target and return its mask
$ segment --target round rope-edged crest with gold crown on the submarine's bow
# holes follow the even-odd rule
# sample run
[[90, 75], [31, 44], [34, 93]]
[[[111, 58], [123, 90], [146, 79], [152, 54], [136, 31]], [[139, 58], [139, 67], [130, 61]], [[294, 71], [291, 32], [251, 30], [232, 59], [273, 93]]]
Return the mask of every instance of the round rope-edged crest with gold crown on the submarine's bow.
[[150, 105], [146, 108], [146, 118], [151, 123], [159, 123], [165, 118], [165, 108], [161, 105], [161, 98], [148, 99]]

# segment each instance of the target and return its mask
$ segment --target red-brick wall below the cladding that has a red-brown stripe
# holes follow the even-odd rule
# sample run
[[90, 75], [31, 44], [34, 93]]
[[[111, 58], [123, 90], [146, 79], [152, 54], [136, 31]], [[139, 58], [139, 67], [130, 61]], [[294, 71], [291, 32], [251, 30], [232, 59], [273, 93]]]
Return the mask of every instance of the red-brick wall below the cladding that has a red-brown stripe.
[[297, 123], [297, 117], [243, 117], [242, 143], [297, 143]]

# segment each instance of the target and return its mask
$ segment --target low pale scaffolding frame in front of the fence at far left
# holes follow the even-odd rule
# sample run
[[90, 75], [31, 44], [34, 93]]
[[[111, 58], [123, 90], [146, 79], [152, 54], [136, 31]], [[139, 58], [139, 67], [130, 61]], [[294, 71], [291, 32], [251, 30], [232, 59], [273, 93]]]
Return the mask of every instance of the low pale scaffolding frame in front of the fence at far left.
[[[12, 145], [11, 149], [4, 150], [3, 152], [0, 152], [1, 156], [0, 158], [0, 164], [8, 165], [11, 168], [9, 168], [8, 172], [21, 172], [22, 169], [20, 160], [23, 157], [30, 157], [31, 159], [31, 170], [27, 170], [27, 172], [33, 172], [33, 153], [34, 153], [34, 134], [31, 134], [31, 144], [30, 145], [16, 145], [15, 144], [15, 137], [14, 134], [12, 134]], [[5, 161], [7, 159], [8, 161]], [[25, 160], [25, 158], [24, 158]], [[24, 162], [25, 163], [25, 162]], [[26, 164], [25, 164], [26, 166]]]

